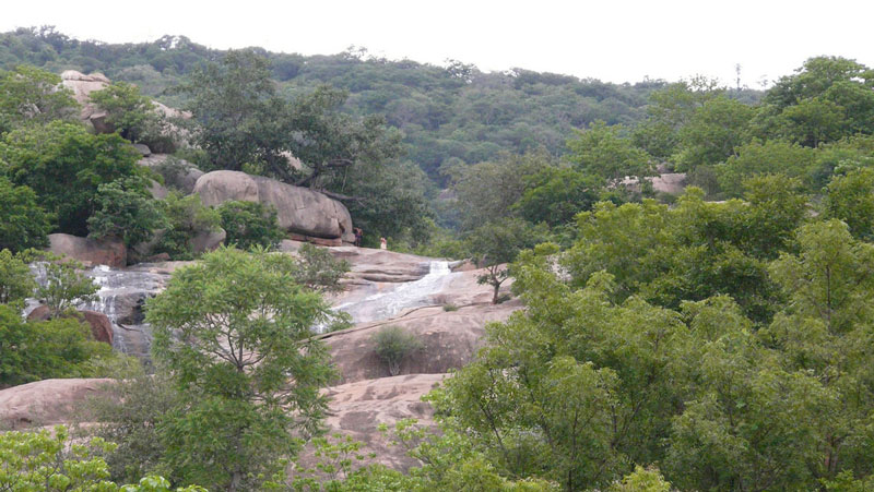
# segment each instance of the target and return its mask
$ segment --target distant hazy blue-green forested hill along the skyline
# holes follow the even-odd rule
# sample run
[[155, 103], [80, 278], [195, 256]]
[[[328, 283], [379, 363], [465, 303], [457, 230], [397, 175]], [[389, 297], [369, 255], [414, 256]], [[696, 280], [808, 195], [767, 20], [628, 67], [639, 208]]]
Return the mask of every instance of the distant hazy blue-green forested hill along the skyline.
[[[288, 97], [327, 83], [350, 92], [345, 110], [383, 113], [403, 130], [409, 158], [438, 180], [439, 167], [454, 159], [474, 164], [500, 151], [522, 153], [539, 146], [560, 155], [574, 128], [595, 120], [641, 120], [649, 94], [665, 85], [612, 84], [522, 69], [484, 73], [457, 61], [447, 67], [392, 61], [363, 49], [310, 57], [255, 50], [271, 60], [273, 76]], [[0, 34], [0, 69], [27, 63], [55, 73], [103, 72], [172, 106], [182, 103], [180, 96], [164, 89], [223, 55], [184, 36], [113, 45], [72, 39], [50, 27]], [[757, 98], [752, 91], [742, 95]]]

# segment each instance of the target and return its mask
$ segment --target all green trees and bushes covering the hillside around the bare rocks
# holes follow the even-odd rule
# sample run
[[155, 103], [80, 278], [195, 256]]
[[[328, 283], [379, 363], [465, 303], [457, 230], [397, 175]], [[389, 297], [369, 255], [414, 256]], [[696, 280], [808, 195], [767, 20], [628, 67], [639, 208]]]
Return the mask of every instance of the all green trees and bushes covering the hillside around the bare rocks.
[[[874, 70], [854, 60], [756, 93], [43, 28], [2, 35], [0, 63], [0, 385], [126, 379], [88, 446], [0, 435], [0, 489], [874, 489]], [[116, 81], [92, 96], [114, 132], [58, 91], [71, 68]], [[138, 166], [131, 142], [177, 167]], [[366, 241], [469, 259], [485, 304], [522, 303], [426, 397], [438, 432], [385, 430], [417, 466], [357, 466], [361, 443], [322, 435], [336, 374], [310, 327], [349, 326], [324, 297], [349, 265], [272, 253], [260, 203], [152, 196], [181, 163], [334, 196]], [[656, 190], [666, 170], [684, 190]], [[201, 255], [217, 227], [231, 247]], [[97, 286], [39, 250], [54, 231], [199, 260], [146, 301], [152, 375], [78, 321]], [[50, 319], [22, 320], [27, 298]]]

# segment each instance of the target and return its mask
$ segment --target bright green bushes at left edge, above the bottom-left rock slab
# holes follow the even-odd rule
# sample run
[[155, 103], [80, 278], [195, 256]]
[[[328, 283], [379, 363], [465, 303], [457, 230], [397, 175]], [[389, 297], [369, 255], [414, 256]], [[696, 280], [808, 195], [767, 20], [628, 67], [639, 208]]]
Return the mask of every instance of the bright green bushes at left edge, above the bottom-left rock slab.
[[0, 305], [0, 386], [107, 375], [97, 361], [117, 357], [75, 316], [24, 322], [16, 309]]

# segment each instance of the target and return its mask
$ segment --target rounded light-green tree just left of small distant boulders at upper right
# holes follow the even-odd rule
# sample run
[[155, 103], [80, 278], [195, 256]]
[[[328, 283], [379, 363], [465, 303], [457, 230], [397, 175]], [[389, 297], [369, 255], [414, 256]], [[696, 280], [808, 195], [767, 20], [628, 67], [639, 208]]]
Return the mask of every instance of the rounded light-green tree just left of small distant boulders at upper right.
[[577, 131], [567, 142], [567, 159], [583, 173], [597, 176], [607, 185], [616, 187], [626, 177], [643, 178], [653, 173], [650, 157], [630, 140], [619, 136], [622, 125], [595, 121]]

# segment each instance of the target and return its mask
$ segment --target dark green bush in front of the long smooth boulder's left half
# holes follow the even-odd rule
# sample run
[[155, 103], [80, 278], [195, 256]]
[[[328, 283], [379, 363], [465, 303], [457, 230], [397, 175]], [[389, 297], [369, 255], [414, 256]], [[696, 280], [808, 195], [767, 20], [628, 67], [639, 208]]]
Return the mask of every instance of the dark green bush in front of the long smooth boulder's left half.
[[253, 245], [275, 248], [285, 237], [276, 221], [276, 211], [258, 202], [225, 202], [217, 208], [225, 243], [241, 250]]

